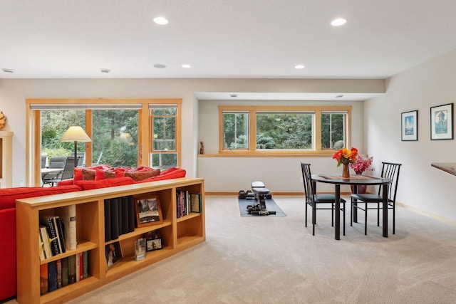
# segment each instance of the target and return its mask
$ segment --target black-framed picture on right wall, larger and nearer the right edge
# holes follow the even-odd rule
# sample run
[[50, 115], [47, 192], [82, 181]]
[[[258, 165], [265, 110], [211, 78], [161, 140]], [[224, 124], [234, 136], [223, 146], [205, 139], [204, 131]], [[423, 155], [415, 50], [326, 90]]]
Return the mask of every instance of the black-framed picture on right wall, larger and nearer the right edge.
[[453, 104], [437, 105], [430, 108], [430, 139], [453, 139]]

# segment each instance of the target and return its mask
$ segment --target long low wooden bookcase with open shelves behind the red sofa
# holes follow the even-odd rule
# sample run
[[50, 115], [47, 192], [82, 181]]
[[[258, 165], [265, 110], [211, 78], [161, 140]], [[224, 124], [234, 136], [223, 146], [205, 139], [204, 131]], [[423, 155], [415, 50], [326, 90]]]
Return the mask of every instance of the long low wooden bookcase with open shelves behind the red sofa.
[[[200, 193], [201, 213], [190, 213], [177, 218], [176, 192]], [[105, 242], [104, 201], [120, 196], [157, 196], [160, 200], [163, 222], [135, 228], [118, 239]], [[61, 206], [76, 204], [76, 250], [67, 250], [40, 261], [38, 226], [41, 214], [53, 214]], [[135, 261], [134, 243], [146, 232], [160, 229], [162, 249], [149, 251], [146, 258]], [[67, 194], [40, 196], [16, 201], [17, 234], [17, 300], [19, 303], [63, 303], [145, 266], [174, 255], [205, 241], [204, 179], [180, 178], [165, 181], [110, 187]], [[119, 241], [123, 258], [108, 268], [105, 246]], [[88, 251], [88, 278], [66, 285], [46, 294], [40, 294], [40, 266], [43, 263]]]

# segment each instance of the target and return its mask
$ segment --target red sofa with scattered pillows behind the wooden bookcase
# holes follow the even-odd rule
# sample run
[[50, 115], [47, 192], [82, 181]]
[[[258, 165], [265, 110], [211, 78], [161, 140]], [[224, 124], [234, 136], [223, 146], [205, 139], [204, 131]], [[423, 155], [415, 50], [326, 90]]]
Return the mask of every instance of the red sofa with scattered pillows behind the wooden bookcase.
[[[140, 167], [144, 168], [144, 167]], [[138, 168], [136, 169], [138, 170]], [[185, 177], [185, 169], [170, 168], [154, 177], [135, 180], [132, 177], [79, 180], [66, 179], [56, 187], [18, 187], [0, 189], [0, 302], [16, 295], [16, 199], [45, 196], [88, 189], [114, 187], [139, 182]]]

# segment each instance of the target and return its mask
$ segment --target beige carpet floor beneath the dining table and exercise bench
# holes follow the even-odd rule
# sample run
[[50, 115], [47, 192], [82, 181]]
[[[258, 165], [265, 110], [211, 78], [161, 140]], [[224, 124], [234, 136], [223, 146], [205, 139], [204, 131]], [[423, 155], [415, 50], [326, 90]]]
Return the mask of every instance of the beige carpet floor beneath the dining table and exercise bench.
[[315, 236], [304, 226], [304, 195], [274, 196], [287, 216], [248, 221], [237, 196], [205, 201], [204, 243], [68, 304], [456, 303], [456, 226], [398, 206], [396, 234], [371, 212], [367, 236], [348, 221], [336, 241], [327, 210]]

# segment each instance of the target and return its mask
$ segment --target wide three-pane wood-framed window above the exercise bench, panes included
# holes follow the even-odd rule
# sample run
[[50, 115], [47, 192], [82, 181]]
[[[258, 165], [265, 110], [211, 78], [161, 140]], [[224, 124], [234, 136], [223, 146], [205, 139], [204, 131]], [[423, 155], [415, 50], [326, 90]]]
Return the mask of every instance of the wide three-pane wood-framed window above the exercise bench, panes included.
[[312, 153], [348, 147], [351, 106], [220, 106], [220, 152]]

